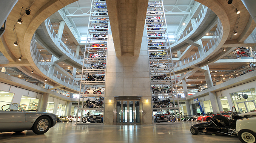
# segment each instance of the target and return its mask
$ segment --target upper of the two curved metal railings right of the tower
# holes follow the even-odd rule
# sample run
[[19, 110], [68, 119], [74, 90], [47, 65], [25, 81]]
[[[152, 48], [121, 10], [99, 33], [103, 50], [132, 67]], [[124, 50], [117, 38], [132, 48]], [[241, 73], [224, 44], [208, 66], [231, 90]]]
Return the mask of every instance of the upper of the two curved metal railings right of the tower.
[[[204, 17], [207, 13], [207, 9], [208, 8], [206, 6], [202, 5], [202, 8], [201, 8], [198, 16], [196, 17], [195, 21], [191, 23], [191, 26], [188, 27], [188, 29], [186, 29], [183, 33], [181, 33], [179, 36], [174, 38], [174, 40], [172, 41], [172, 45], [177, 44], [177, 42], [179, 42], [179, 41], [181, 42], [182, 40], [187, 39], [192, 33], [194, 33], [196, 31], [196, 29], [199, 27], [199, 25], [204, 20]], [[170, 45], [170, 46], [172, 47], [172, 45]]]

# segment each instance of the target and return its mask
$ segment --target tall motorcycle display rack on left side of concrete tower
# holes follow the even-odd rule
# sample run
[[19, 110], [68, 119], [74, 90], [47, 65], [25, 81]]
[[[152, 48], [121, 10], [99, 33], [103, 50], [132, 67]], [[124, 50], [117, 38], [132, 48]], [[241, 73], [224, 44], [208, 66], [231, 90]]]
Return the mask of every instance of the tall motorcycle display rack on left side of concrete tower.
[[[106, 55], [108, 47], [108, 11], [106, 1], [92, 0], [88, 24], [87, 41], [84, 51], [80, 86], [80, 98], [77, 109], [77, 125], [103, 124], [104, 98], [105, 98], [105, 73]], [[81, 91], [85, 91], [84, 93]], [[102, 102], [100, 102], [102, 101]], [[82, 105], [81, 105], [82, 104]], [[91, 112], [92, 118], [100, 115], [101, 120], [85, 121], [85, 114]], [[94, 116], [93, 116], [94, 115]], [[88, 118], [89, 118], [88, 116]], [[84, 120], [82, 120], [84, 117]], [[80, 118], [80, 120], [78, 119]], [[88, 119], [87, 118], [87, 119]]]

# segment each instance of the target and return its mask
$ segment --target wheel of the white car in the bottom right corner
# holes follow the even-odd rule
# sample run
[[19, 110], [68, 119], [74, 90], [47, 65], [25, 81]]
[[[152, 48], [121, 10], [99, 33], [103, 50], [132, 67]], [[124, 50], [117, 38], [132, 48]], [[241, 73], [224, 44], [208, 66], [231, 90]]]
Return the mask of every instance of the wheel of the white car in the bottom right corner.
[[242, 143], [256, 143], [256, 133], [250, 129], [241, 129], [237, 136]]

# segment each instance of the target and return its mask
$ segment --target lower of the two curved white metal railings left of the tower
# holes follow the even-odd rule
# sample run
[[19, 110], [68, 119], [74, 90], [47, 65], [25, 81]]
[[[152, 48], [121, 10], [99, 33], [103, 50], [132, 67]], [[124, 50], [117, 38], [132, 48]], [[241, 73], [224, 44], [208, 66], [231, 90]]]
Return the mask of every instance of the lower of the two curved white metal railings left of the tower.
[[[35, 65], [37, 66], [37, 68], [39, 68], [43, 72], [43, 74], [45, 74], [47, 77], [51, 78], [52, 80], [57, 81], [58, 83], [62, 84], [63, 86], [66, 86], [71, 89], [79, 91], [79, 89], [80, 89], [79, 81], [75, 81], [72, 78], [69, 78], [69, 77], [61, 74], [60, 71], [57, 71], [54, 68], [54, 66], [49, 65], [45, 61], [45, 59], [43, 59], [43, 57], [40, 54], [40, 52], [37, 48], [37, 45], [35, 43], [35, 34], [31, 40], [30, 50], [31, 50], [31, 56], [32, 56], [32, 59], [34, 60]], [[83, 84], [82, 84], [82, 87], [83, 87]]]

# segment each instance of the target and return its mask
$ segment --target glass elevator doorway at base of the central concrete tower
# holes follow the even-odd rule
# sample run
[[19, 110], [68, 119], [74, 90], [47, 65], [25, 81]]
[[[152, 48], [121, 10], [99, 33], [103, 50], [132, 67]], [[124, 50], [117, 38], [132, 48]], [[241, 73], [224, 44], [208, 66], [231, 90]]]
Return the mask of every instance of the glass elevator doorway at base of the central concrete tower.
[[116, 99], [115, 122], [117, 125], [141, 124], [141, 101]]

